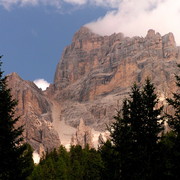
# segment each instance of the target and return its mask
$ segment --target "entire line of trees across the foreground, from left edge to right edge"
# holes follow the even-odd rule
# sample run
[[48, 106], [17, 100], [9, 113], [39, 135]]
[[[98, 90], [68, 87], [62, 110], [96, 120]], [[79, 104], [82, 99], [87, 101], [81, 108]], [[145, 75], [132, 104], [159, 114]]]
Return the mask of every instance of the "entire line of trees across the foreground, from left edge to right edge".
[[[180, 67], [180, 66], [179, 66]], [[178, 91], [167, 99], [173, 114], [158, 106], [150, 79], [134, 84], [114, 122], [110, 138], [99, 148], [60, 146], [35, 165], [32, 148], [23, 143], [23, 127], [16, 127], [17, 101], [11, 96], [0, 62], [0, 179], [28, 180], [154, 180], [180, 179], [180, 76]], [[164, 131], [164, 122], [170, 127]]]

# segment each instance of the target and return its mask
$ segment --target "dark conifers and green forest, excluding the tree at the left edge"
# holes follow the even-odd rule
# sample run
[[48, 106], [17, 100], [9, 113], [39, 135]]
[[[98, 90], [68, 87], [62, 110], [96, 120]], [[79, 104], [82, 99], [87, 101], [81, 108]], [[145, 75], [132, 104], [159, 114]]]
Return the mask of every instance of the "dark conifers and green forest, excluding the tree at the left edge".
[[[179, 87], [180, 79], [176, 76]], [[129, 99], [109, 127], [110, 139], [98, 150], [87, 146], [61, 146], [46, 154], [29, 179], [153, 180], [180, 178], [179, 92], [168, 99], [174, 115], [158, 108], [155, 87], [149, 79], [132, 87]], [[172, 128], [163, 131], [164, 121]]]

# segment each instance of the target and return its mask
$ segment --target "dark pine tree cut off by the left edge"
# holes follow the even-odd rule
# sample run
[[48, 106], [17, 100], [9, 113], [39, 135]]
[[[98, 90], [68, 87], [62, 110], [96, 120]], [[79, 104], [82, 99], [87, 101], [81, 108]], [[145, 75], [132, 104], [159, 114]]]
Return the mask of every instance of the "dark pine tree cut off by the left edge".
[[23, 165], [27, 153], [22, 145], [23, 127], [15, 127], [19, 117], [15, 117], [17, 101], [11, 96], [7, 79], [3, 77], [0, 61], [0, 179], [24, 179]]

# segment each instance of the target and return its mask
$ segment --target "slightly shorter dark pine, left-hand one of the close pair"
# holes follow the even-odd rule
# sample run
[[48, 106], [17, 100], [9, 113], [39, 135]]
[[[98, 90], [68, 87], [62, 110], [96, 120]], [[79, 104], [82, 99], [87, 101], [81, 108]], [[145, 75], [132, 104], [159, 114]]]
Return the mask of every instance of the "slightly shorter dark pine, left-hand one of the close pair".
[[115, 122], [111, 126], [111, 140], [118, 152], [116, 175], [113, 179], [131, 179], [135, 174], [135, 159], [138, 133], [141, 133], [142, 98], [136, 84], [132, 87], [129, 100], [123, 101], [123, 107], [117, 111]]

